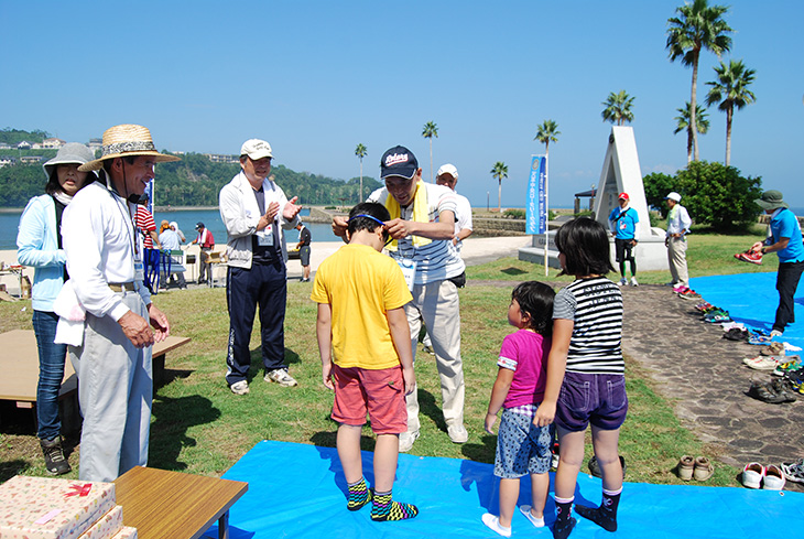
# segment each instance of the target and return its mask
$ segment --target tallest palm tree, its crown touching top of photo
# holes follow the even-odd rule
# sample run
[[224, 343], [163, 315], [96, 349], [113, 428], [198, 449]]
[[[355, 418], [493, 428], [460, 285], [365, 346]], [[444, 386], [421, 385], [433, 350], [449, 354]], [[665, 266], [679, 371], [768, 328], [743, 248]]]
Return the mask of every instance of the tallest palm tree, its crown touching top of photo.
[[[689, 109], [697, 110], [696, 93], [698, 87], [698, 60], [700, 51], [707, 48], [717, 57], [731, 47], [731, 37], [727, 34], [731, 28], [726, 24], [722, 15], [728, 11], [726, 6], [709, 6], [707, 0], [695, 0], [675, 11], [678, 17], [667, 19], [667, 44], [670, 61], [681, 58], [682, 65], [693, 66], [693, 87], [691, 90]], [[691, 118], [693, 132], [693, 149], [695, 161], [698, 161], [698, 130], [695, 127], [696, 118]]]

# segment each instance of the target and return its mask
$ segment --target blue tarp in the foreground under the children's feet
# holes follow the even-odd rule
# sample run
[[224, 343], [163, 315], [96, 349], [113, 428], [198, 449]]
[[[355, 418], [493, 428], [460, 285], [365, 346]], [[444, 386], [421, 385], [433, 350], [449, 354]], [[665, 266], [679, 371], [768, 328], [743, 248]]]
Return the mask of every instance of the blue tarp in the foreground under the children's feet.
[[[372, 453], [363, 452], [362, 460], [371, 484]], [[401, 522], [373, 522], [370, 506], [355, 513], [346, 509], [346, 484], [334, 448], [263, 441], [224, 477], [249, 483], [248, 493], [231, 508], [232, 539], [499, 537], [480, 521], [484, 513], [498, 513], [499, 482], [491, 464], [401, 454], [394, 498], [413, 503], [421, 511]], [[551, 484], [546, 508], [551, 527], [555, 520], [552, 492]], [[597, 505], [599, 500], [600, 479], [582, 474], [576, 502]], [[522, 481], [520, 504], [530, 504], [528, 479]], [[577, 518], [572, 538], [787, 539], [804, 519], [804, 494], [626, 483], [617, 532]], [[519, 511], [512, 528], [513, 537], [553, 537], [550, 528], [534, 528]], [[218, 537], [216, 527], [206, 533]]]

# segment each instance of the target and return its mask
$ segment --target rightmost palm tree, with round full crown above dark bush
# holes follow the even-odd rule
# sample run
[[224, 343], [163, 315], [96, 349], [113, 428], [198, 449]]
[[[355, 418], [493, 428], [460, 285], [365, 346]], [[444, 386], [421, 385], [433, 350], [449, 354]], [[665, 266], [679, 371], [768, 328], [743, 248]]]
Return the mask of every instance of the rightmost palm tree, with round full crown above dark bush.
[[751, 105], [757, 98], [748, 86], [753, 83], [756, 69], [748, 69], [741, 60], [729, 64], [720, 62], [715, 67], [717, 80], [706, 83], [711, 86], [709, 94], [706, 96], [706, 105], [711, 106], [718, 103], [718, 110], [726, 112], [726, 166], [731, 161], [731, 120], [735, 115], [735, 107], [740, 110], [747, 105]]

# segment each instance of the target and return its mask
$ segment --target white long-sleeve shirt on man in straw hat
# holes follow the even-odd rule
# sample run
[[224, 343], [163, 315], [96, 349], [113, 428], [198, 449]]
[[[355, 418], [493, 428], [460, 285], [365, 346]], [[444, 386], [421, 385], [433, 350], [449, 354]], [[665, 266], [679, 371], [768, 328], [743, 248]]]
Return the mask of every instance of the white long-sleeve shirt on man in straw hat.
[[[109, 284], [134, 282], [134, 246], [142, 260], [142, 240], [131, 216], [137, 206], [128, 203], [100, 182], [80, 190], [64, 211], [62, 237], [67, 254], [67, 272], [76, 297], [95, 316], [111, 316], [116, 322], [129, 311]], [[137, 242], [137, 244], [135, 244]], [[151, 294], [134, 282], [145, 304]]]

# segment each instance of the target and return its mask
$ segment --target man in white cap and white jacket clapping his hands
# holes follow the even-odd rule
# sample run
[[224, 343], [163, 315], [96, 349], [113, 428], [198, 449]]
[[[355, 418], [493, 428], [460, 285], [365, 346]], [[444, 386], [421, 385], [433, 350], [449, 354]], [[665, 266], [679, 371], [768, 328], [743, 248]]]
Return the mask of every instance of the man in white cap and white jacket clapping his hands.
[[287, 247], [284, 229], [298, 224], [302, 206], [290, 201], [271, 173], [271, 145], [247, 140], [240, 149], [242, 169], [220, 190], [220, 218], [228, 235], [226, 298], [229, 346], [226, 381], [235, 395], [249, 392], [251, 328], [260, 308], [262, 363], [265, 381], [291, 387], [296, 380], [284, 364], [284, 321], [287, 299]]

